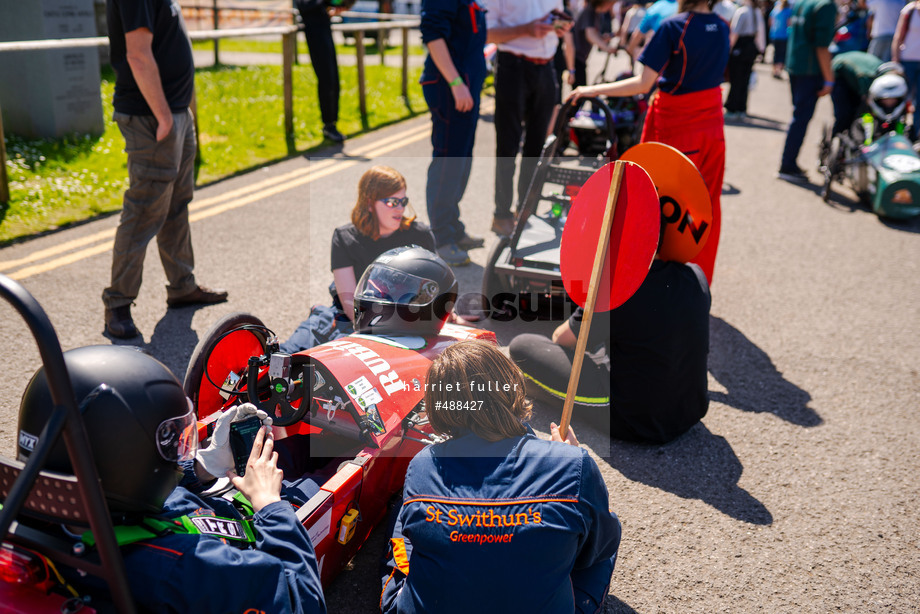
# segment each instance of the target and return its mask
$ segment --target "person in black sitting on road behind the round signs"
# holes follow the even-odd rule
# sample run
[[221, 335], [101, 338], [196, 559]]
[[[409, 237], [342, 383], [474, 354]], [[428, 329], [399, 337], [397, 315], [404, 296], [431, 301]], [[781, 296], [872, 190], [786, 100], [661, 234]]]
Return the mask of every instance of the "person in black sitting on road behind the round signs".
[[[594, 314], [575, 417], [597, 425], [609, 415], [611, 437], [648, 443], [671, 441], [699, 422], [709, 408], [711, 302], [699, 266], [656, 256], [629, 300]], [[579, 307], [552, 339], [523, 334], [511, 341], [511, 358], [533, 396], [565, 399], [582, 316]]]

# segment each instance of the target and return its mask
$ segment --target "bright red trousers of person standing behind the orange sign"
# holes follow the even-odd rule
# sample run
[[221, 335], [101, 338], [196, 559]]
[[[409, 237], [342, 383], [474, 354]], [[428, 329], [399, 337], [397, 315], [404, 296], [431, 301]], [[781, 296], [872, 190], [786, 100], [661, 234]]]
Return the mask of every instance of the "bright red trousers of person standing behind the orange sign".
[[712, 273], [722, 229], [722, 178], [725, 175], [725, 131], [722, 90], [674, 96], [658, 92], [642, 128], [642, 142], [657, 141], [674, 147], [699, 169], [712, 201], [712, 229], [703, 249], [692, 262], [698, 264], [712, 285]]

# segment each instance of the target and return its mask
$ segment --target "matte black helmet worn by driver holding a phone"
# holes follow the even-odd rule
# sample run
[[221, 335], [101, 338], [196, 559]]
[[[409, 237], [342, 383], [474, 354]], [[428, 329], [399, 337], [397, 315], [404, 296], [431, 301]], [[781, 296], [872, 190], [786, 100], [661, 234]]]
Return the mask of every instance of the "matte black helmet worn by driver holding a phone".
[[[179, 483], [178, 461], [198, 447], [195, 412], [182, 384], [136, 348], [97, 345], [64, 352], [77, 407], [109, 503], [117, 513], [159, 513]], [[17, 457], [25, 461], [53, 408], [44, 368], [19, 407]], [[45, 469], [72, 474], [63, 438]]]

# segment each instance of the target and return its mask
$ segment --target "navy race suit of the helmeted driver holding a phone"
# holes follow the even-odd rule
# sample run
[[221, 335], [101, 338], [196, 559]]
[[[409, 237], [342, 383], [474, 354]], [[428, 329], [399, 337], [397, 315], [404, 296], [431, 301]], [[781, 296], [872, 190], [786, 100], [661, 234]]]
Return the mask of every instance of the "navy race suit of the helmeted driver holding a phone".
[[[300, 498], [300, 497], [297, 497]], [[165, 517], [189, 514], [240, 518], [228, 501], [177, 487]], [[154, 612], [325, 613], [313, 544], [287, 501], [253, 518], [255, 549], [207, 535], [172, 534], [122, 550], [131, 592]]]

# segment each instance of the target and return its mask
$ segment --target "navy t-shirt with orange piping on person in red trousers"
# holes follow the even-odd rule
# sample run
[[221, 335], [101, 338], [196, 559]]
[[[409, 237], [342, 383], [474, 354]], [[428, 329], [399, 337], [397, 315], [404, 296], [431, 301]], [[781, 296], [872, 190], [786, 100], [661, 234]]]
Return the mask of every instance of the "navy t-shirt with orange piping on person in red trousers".
[[669, 94], [719, 87], [728, 63], [728, 33], [728, 24], [715, 13], [678, 13], [661, 23], [639, 61], [661, 75], [658, 87]]

